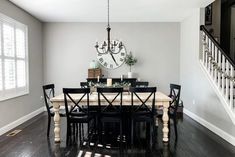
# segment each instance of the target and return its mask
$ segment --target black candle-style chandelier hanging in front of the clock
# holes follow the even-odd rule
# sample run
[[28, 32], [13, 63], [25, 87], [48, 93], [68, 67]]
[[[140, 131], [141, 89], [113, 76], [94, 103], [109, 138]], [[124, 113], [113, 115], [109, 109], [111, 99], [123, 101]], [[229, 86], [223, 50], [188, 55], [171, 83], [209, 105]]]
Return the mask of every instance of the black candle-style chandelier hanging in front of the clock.
[[110, 41], [110, 25], [109, 25], [109, 0], [108, 0], [108, 25], [107, 25], [107, 33], [108, 33], [108, 39], [107, 41], [104, 41], [103, 44], [99, 45], [98, 42], [96, 42], [95, 48], [98, 54], [118, 54], [123, 48], [123, 44], [119, 40], [113, 40]]

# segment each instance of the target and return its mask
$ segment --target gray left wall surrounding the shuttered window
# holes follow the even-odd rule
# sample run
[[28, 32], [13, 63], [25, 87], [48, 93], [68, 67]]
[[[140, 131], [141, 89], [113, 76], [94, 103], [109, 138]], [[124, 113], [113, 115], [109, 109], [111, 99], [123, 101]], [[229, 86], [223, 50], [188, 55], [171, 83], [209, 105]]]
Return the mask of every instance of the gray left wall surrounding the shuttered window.
[[0, 1], [0, 12], [28, 26], [29, 94], [0, 102], [0, 128], [43, 106], [42, 24], [7, 0]]

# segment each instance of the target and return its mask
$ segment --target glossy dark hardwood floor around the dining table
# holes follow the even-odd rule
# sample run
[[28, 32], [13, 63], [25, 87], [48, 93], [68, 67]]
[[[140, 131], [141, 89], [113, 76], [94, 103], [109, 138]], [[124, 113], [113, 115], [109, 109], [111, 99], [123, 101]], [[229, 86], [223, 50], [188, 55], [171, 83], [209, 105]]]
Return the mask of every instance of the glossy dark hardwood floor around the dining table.
[[[156, 145], [148, 149], [147, 141], [137, 140], [133, 148], [124, 144], [120, 151], [115, 144], [111, 148], [83, 146], [73, 144], [66, 146], [66, 120], [62, 119], [62, 142], [55, 144], [53, 129], [50, 139], [46, 137], [47, 115], [40, 114], [16, 129], [22, 132], [13, 137], [3, 135], [0, 137], [0, 157], [115, 157], [115, 156], [159, 156], [159, 157], [235, 157], [235, 147], [201, 126], [188, 116], [178, 121], [178, 141], [175, 141], [174, 130], [171, 127], [169, 144], [162, 142], [162, 127], [157, 128]], [[53, 124], [51, 126], [53, 128]], [[112, 141], [112, 138], [109, 138]]]

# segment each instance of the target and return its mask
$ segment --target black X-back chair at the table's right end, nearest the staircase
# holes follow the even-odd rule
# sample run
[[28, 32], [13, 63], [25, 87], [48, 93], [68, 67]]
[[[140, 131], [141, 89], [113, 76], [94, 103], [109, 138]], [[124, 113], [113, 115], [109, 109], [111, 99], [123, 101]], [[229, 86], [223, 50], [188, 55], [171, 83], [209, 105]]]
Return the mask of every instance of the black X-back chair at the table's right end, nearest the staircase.
[[[169, 118], [173, 120], [174, 123], [174, 131], [175, 131], [175, 139], [178, 139], [178, 131], [177, 131], [177, 110], [180, 102], [180, 92], [181, 86], [177, 84], [170, 84], [170, 94], [168, 95], [172, 101], [170, 102], [168, 115]], [[157, 117], [162, 118], [163, 112], [162, 110], [157, 111]], [[169, 134], [170, 134], [170, 121], [168, 122]]]

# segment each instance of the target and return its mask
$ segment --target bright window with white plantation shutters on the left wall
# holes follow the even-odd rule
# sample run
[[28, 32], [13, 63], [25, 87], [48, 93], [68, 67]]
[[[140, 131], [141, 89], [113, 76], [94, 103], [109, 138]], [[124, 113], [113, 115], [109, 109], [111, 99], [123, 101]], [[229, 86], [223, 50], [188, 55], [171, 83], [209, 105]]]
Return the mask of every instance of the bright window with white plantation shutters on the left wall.
[[27, 26], [0, 14], [0, 101], [27, 94]]

